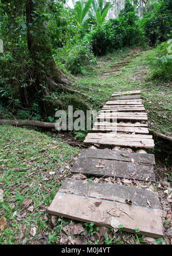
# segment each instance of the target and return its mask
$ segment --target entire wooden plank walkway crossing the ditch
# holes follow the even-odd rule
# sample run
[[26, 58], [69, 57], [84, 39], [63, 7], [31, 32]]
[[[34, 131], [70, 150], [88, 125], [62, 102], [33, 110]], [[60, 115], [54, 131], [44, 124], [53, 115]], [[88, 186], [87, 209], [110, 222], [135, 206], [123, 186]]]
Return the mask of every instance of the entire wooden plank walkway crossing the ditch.
[[[114, 115], [111, 115], [113, 111], [117, 111], [115, 123]], [[84, 149], [71, 172], [112, 177], [114, 183], [120, 179], [122, 185], [67, 179], [54, 197], [49, 213], [111, 226], [115, 230], [122, 225], [123, 231], [135, 233], [139, 229], [138, 234], [162, 237], [158, 193], [134, 187], [132, 183], [156, 181], [154, 155], [126, 151], [126, 146], [131, 149], [154, 148], [146, 121], [140, 91], [112, 94], [98, 115], [92, 133], [88, 133], [84, 141], [99, 146], [99, 149]], [[107, 145], [108, 149], [101, 149], [101, 145]], [[121, 149], [113, 150], [114, 146]]]

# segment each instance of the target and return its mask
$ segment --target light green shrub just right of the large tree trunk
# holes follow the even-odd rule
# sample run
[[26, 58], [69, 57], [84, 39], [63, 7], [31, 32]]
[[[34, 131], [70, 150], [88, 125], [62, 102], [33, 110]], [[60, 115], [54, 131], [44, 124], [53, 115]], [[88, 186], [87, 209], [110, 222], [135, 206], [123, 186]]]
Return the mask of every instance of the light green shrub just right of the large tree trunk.
[[96, 58], [91, 52], [87, 42], [77, 42], [75, 45], [66, 46], [58, 49], [54, 55], [56, 61], [65, 64], [65, 67], [72, 74], [85, 74], [85, 66], [88, 64], [96, 64]]

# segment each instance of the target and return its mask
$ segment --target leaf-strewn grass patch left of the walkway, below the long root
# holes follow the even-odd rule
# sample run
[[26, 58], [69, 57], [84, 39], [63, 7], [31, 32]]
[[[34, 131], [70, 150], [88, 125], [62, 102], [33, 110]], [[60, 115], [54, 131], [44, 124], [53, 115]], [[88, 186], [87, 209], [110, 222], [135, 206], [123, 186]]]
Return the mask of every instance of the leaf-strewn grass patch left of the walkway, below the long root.
[[[40, 243], [44, 236], [48, 243], [56, 243], [58, 231], [66, 222], [57, 221], [55, 237], [47, 223], [46, 208], [67, 177], [79, 149], [38, 131], [10, 126], [0, 127], [0, 139], [0, 187], [4, 199], [0, 202], [0, 216], [7, 222], [5, 230], [0, 231], [0, 243]], [[33, 211], [24, 208], [28, 197]], [[25, 234], [19, 239], [25, 223]], [[30, 230], [34, 227], [37, 231], [32, 236]]]

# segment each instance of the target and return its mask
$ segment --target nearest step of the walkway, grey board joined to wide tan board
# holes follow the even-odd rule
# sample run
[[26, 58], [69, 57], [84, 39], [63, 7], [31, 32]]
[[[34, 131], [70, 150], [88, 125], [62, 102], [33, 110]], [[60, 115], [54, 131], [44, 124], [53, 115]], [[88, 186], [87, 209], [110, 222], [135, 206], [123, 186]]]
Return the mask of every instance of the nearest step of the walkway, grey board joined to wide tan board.
[[[133, 205], [127, 204], [126, 199]], [[100, 202], [98, 207], [97, 202]], [[145, 189], [65, 180], [48, 212], [107, 227], [114, 226], [112, 220], [116, 220], [116, 227], [122, 224], [123, 231], [135, 232], [139, 228], [139, 234], [163, 237], [158, 195]]]

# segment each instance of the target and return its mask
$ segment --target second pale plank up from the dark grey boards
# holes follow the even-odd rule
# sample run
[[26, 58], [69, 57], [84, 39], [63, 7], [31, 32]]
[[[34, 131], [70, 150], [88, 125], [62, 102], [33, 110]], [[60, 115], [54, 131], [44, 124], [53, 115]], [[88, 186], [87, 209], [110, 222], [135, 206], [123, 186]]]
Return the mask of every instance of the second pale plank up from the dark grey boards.
[[141, 134], [147, 134], [149, 133], [148, 128], [144, 128], [144, 127], [132, 127], [132, 126], [117, 126], [116, 125], [106, 125], [103, 123], [97, 123], [97, 125], [95, 124], [92, 128], [92, 131], [112, 131], [112, 130], [116, 130], [116, 131], [123, 131], [126, 133], [141, 133]]

